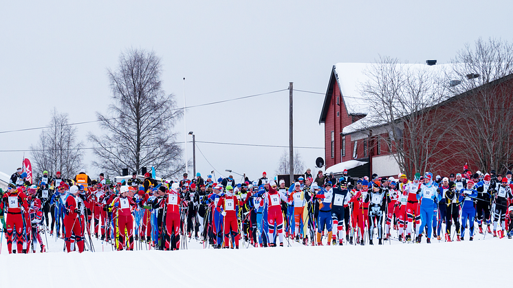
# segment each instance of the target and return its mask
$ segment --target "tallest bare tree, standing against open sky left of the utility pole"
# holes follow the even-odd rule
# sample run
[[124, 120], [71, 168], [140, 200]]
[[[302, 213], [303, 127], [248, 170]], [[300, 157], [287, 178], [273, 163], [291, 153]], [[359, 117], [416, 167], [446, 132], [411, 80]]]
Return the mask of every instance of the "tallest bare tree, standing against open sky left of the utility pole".
[[120, 55], [118, 69], [108, 70], [113, 104], [108, 115], [97, 113], [105, 135], [89, 133], [95, 144], [95, 166], [120, 175], [123, 168], [140, 171], [153, 166], [169, 177], [184, 170], [182, 148], [172, 129], [182, 111], [175, 96], [162, 90], [162, 66], [155, 52], [128, 49]]

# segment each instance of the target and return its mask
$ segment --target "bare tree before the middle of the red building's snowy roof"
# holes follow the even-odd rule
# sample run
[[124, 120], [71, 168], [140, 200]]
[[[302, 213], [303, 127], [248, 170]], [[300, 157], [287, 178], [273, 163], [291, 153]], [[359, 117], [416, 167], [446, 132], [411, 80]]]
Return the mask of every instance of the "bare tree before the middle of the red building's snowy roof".
[[448, 160], [438, 148], [447, 142], [452, 129], [446, 121], [449, 115], [438, 105], [447, 99], [447, 85], [442, 81], [444, 74], [432, 68], [380, 57], [367, 69], [369, 80], [361, 87], [371, 107], [360, 120], [360, 130], [369, 137], [369, 150], [373, 151], [378, 141], [386, 143], [408, 177], [434, 172]]

